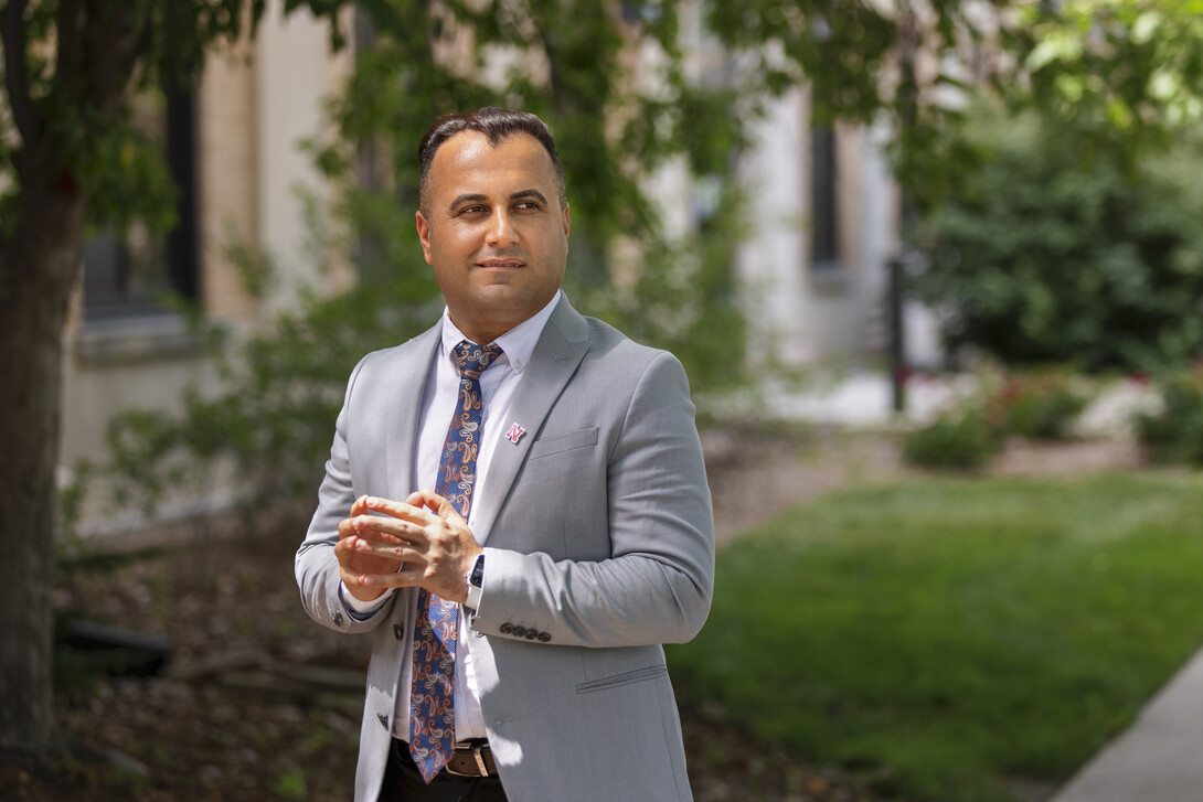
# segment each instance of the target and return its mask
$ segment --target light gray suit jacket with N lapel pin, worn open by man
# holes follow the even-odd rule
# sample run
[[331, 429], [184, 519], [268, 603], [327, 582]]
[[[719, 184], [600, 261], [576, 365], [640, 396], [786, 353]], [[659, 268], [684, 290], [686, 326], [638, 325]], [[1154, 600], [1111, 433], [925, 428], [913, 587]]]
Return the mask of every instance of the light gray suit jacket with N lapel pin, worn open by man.
[[[338, 416], [318, 511], [297, 551], [308, 613], [373, 631], [355, 798], [384, 776], [416, 590], [369, 620], [338, 595], [338, 522], [365, 493], [404, 499], [435, 326], [365, 357]], [[681, 364], [561, 298], [475, 499], [480, 608], [464, 622], [488, 739], [511, 802], [689, 800], [662, 643], [710, 611], [710, 491]], [[486, 436], [502, 438], [511, 421]]]

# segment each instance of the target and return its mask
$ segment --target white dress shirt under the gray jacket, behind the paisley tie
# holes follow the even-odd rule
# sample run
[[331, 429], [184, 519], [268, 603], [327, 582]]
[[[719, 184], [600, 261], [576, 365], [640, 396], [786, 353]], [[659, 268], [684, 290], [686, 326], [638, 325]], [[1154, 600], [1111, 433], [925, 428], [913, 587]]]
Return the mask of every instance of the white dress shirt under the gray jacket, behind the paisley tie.
[[[481, 393], [481, 429], [485, 436], [481, 439], [480, 452], [476, 456], [476, 480], [473, 485], [472, 498], [479, 499], [481, 491], [488, 482], [488, 465], [493, 458], [493, 451], [498, 441], [502, 440], [499, 429], [508, 430], [511, 421], [508, 420], [510, 402], [517, 391], [518, 381], [531, 362], [534, 346], [543, 334], [544, 326], [551, 317], [562, 293], [544, 307], [538, 314], [526, 322], [515, 326], [510, 331], [498, 337], [494, 343], [502, 347], [502, 356], [497, 357], [484, 373], [480, 374]], [[443, 310], [443, 337], [439, 343], [438, 354], [431, 364], [427, 374], [426, 390], [422, 393], [421, 430], [419, 432], [417, 447], [414, 453], [414, 476], [417, 477], [420, 487], [414, 489], [434, 489], [438, 483], [439, 463], [443, 459], [443, 445], [446, 441], [448, 427], [451, 415], [460, 397], [460, 367], [455, 360], [455, 347], [468, 339], [455, 323], [446, 309]], [[490, 345], [490, 343], [478, 343], [478, 345]], [[397, 499], [402, 500], [402, 499]], [[472, 528], [475, 504], [468, 513], [468, 527]], [[487, 565], [486, 565], [487, 572]], [[369, 618], [380, 610], [393, 590], [386, 592], [379, 599], [363, 602], [339, 588], [339, 594], [344, 604], [356, 618]], [[464, 612], [461, 610], [458, 640], [456, 646], [455, 661], [455, 737], [456, 741], [466, 738], [486, 737], [485, 719], [480, 711], [480, 696], [476, 689], [476, 677], [472, 666], [472, 646], [468, 637], [468, 626], [464, 625]], [[408, 629], [413, 629], [410, 622]], [[405, 638], [407, 649], [413, 647], [413, 635]], [[403, 741], [409, 741], [409, 688], [413, 683], [413, 658], [407, 655], [402, 660], [401, 684], [397, 688], [397, 706], [393, 715], [392, 733]]]

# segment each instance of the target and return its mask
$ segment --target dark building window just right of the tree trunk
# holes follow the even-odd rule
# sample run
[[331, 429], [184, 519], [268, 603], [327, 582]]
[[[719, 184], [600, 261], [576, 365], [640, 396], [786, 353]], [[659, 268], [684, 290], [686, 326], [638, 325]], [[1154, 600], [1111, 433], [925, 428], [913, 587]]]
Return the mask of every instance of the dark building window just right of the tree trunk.
[[164, 311], [166, 292], [198, 297], [196, 111], [190, 90], [170, 89], [138, 101], [138, 118], [162, 143], [177, 188], [176, 227], [166, 236], [135, 224], [119, 236], [101, 232], [83, 253], [84, 320], [102, 321]]

